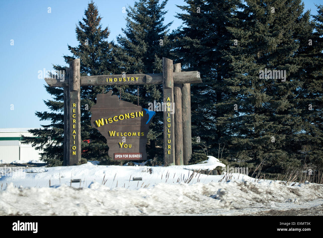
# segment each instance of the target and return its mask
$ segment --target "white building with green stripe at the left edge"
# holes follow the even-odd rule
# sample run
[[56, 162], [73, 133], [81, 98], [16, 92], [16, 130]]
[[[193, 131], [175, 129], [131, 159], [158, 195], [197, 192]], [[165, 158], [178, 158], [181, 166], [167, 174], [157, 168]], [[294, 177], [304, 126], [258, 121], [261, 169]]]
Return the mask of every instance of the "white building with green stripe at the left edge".
[[32, 128], [0, 128], [0, 164], [14, 161], [28, 162], [39, 160], [38, 153], [31, 144], [21, 144], [22, 137], [33, 136], [28, 130]]

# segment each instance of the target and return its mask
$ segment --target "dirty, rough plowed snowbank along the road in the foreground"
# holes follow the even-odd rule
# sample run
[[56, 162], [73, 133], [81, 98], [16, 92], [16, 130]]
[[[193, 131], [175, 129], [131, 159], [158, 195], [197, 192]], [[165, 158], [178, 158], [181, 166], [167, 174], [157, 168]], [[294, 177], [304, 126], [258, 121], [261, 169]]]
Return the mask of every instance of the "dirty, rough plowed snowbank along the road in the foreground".
[[[166, 184], [129, 190], [98, 182], [76, 189], [15, 187], [0, 192], [0, 215], [251, 215], [315, 208], [323, 186], [288, 187], [278, 182]], [[319, 207], [319, 206], [318, 206]]]

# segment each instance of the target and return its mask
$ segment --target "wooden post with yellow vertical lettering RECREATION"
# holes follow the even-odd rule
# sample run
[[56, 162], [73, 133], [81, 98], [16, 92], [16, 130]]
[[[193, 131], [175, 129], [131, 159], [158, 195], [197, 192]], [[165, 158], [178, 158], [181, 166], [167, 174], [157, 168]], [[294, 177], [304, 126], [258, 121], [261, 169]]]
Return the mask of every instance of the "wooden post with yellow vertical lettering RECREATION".
[[68, 102], [68, 133], [67, 163], [76, 165], [81, 161], [81, 100], [80, 100], [80, 59], [69, 62], [69, 102]]

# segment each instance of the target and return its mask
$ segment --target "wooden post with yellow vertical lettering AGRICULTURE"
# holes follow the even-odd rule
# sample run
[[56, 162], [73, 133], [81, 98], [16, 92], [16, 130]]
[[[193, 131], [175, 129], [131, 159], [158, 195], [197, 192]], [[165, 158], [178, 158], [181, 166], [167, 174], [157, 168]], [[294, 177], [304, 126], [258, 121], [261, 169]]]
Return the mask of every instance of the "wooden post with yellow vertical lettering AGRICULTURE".
[[170, 105], [174, 102], [173, 61], [162, 58], [164, 107], [164, 163], [175, 165], [174, 114]]

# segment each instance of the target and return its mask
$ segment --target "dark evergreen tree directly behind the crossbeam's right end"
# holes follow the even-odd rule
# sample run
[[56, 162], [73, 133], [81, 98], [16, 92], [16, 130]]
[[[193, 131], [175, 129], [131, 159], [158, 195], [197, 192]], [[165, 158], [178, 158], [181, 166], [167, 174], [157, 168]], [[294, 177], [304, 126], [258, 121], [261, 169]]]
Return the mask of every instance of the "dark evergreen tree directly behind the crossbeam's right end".
[[[203, 84], [191, 85], [193, 152], [205, 146], [209, 155], [218, 157], [219, 145], [225, 147], [231, 137], [233, 125], [228, 120], [236, 113], [233, 99], [237, 94], [228, 90], [224, 79], [230, 77], [226, 57], [234, 43], [227, 27], [234, 23], [241, 3], [239, 0], [185, 2], [188, 5], [178, 6], [185, 11], [176, 16], [184, 26], [173, 32], [173, 58], [182, 63], [184, 71], [199, 71], [203, 80]], [[195, 142], [197, 136], [201, 143]], [[227, 149], [225, 154], [229, 154]]]

